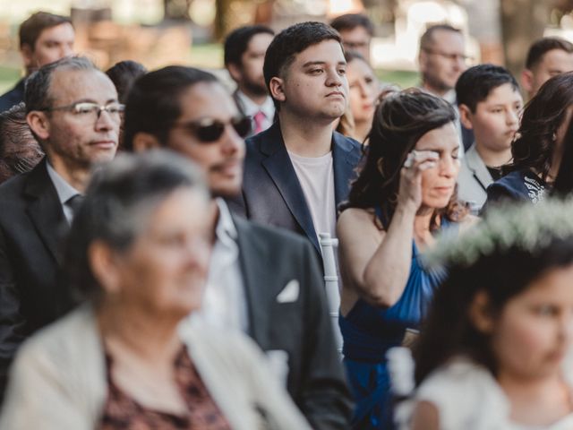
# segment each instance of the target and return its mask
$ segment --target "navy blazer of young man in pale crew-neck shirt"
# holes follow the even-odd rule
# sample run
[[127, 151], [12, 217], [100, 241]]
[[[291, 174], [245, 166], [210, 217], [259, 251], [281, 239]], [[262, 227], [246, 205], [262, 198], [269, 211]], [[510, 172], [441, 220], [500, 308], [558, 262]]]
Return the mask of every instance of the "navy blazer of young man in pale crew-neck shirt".
[[[338, 206], [348, 198], [350, 182], [361, 158], [360, 143], [334, 132], [332, 158]], [[242, 198], [230, 206], [248, 219], [306, 235], [320, 254], [311, 211], [286, 151], [279, 123], [247, 140]]]

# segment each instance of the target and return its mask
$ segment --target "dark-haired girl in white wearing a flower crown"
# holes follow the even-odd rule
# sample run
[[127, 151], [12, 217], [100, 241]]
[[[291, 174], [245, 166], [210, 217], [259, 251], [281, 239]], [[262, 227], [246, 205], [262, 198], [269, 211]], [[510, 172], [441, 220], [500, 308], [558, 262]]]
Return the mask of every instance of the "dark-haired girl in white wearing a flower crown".
[[573, 428], [572, 211], [571, 201], [492, 210], [427, 255], [449, 276], [415, 346], [402, 428]]

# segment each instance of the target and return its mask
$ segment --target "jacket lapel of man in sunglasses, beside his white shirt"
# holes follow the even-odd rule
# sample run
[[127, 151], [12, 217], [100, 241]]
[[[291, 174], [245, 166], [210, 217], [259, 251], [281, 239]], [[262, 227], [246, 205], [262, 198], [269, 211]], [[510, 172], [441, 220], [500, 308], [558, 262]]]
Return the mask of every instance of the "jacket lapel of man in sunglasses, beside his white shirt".
[[261, 266], [257, 255], [268, 253], [268, 249], [261, 249], [256, 236], [251, 234], [249, 221], [233, 216], [237, 231], [237, 244], [239, 246], [239, 264], [243, 275], [244, 291], [247, 298], [249, 313], [249, 335], [259, 342], [266, 342], [267, 314], [270, 301], [274, 297], [274, 291], [267, 282], [269, 273], [267, 268]]

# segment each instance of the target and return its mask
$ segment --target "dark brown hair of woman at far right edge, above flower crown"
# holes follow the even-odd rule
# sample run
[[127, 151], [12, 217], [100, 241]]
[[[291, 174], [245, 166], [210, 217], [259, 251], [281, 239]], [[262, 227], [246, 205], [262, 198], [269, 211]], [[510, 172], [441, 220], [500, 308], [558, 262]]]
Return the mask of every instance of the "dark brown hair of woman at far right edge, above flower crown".
[[562, 73], [543, 83], [535, 97], [526, 104], [511, 144], [513, 159], [503, 168], [507, 175], [516, 170], [532, 169], [543, 181], [552, 168], [556, 146], [555, 133], [563, 124], [567, 108], [573, 105], [573, 72]]

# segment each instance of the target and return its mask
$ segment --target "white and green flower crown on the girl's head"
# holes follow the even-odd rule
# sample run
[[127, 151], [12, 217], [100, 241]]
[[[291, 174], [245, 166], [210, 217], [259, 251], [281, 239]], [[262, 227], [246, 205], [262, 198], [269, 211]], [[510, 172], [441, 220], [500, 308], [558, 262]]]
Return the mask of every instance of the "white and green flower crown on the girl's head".
[[475, 226], [452, 233], [446, 229], [423, 255], [426, 266], [470, 266], [494, 251], [517, 247], [533, 252], [554, 239], [573, 236], [573, 198], [499, 204]]

